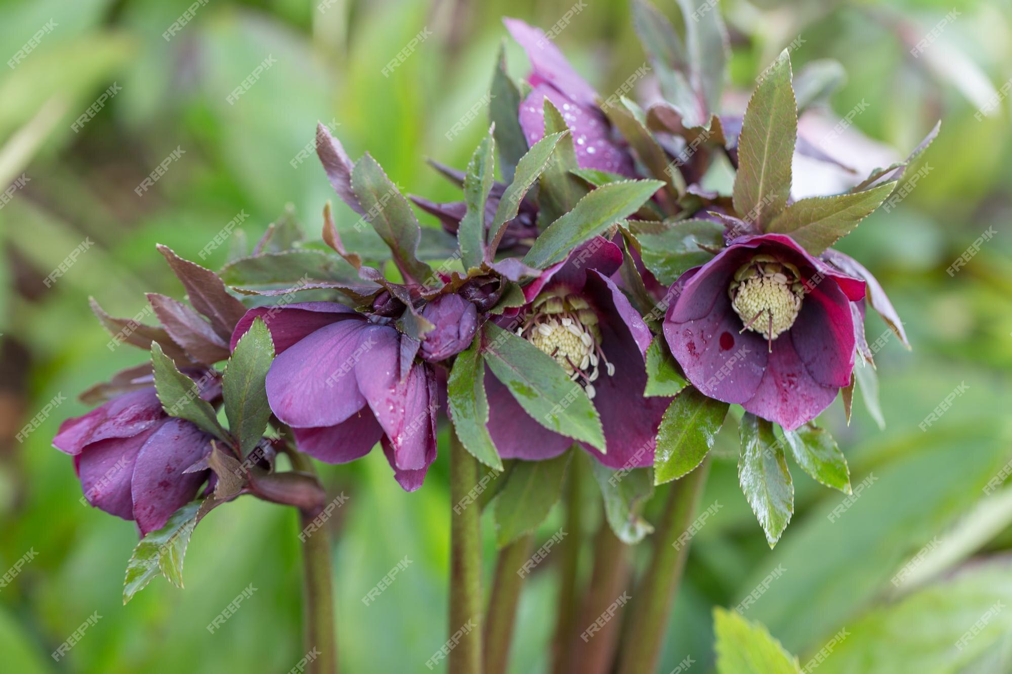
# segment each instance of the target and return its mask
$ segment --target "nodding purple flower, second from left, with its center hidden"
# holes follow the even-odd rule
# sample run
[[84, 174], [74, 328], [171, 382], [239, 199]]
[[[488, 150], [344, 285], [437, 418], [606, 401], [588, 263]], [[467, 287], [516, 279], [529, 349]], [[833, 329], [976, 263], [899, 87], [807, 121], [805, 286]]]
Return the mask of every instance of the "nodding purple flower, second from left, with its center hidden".
[[432, 366], [413, 363], [412, 340], [389, 319], [307, 302], [250, 310], [231, 348], [256, 318], [267, 324], [277, 354], [267, 371], [267, 401], [299, 448], [344, 464], [380, 441], [401, 486], [421, 487], [436, 457], [439, 392]]

